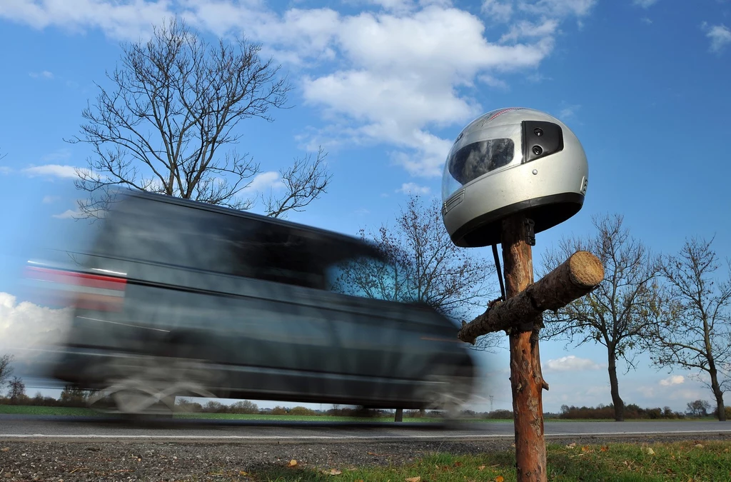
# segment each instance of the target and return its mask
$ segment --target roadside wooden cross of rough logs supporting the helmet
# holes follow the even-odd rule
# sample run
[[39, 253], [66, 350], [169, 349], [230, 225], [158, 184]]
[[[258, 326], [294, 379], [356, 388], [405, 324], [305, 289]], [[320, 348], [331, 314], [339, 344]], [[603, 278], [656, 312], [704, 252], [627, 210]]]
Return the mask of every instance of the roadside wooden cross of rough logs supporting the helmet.
[[502, 222], [506, 300], [491, 306], [470, 323], [462, 322], [458, 337], [474, 344], [477, 336], [505, 331], [510, 336], [510, 384], [515, 413], [515, 460], [518, 482], [546, 481], [543, 438], [543, 380], [538, 353], [542, 313], [556, 311], [599, 286], [601, 261], [590, 252], [575, 252], [558, 268], [533, 283], [533, 257], [525, 214]]

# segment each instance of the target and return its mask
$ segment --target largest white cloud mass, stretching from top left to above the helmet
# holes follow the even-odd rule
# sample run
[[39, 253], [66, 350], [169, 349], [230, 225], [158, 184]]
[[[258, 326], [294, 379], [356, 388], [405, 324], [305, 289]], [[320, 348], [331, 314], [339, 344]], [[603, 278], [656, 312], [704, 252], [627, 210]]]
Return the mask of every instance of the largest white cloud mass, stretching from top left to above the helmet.
[[307, 144], [383, 143], [409, 173], [439, 176], [452, 142], [433, 129], [466, 124], [484, 111], [471, 97], [475, 81], [505, 89], [501, 75], [534, 71], [553, 50], [559, 23], [588, 15], [596, 0], [483, 1], [491, 20], [515, 19], [503, 36], [511, 45], [488, 38], [481, 18], [447, 0], [347, 3], [380, 8], [280, 14], [260, 0], [14, 0], [0, 6], [0, 18], [39, 29], [101, 29], [115, 39], [149, 34], [152, 23], [173, 14], [219, 35], [245, 26], [263, 54], [303, 73], [306, 104], [327, 123]]

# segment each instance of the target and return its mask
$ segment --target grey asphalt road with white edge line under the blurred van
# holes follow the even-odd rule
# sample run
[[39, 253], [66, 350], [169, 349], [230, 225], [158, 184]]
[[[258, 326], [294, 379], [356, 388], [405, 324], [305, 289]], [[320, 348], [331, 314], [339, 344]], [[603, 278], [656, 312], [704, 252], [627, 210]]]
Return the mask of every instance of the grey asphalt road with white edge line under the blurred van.
[[[625, 421], [545, 423], [550, 437], [638, 435], [731, 437], [731, 422]], [[358, 440], [487, 440], [512, 438], [512, 423], [350, 423], [232, 420], [156, 420], [129, 423], [113, 418], [0, 415], [0, 440], [200, 440], [211, 442], [318, 442]]]

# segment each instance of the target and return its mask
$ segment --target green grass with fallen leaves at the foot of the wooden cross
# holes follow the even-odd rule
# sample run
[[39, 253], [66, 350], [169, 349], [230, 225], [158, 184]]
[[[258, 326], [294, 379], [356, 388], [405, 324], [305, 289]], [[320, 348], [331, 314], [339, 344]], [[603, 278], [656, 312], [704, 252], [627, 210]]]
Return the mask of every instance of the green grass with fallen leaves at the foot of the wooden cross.
[[[696, 448], [694, 442], [650, 445], [609, 444], [569, 448], [548, 445], [548, 480], [654, 482], [729, 481], [731, 443], [708, 442]], [[654, 453], [648, 453], [651, 448]], [[330, 471], [336, 477], [330, 475]], [[326, 473], [327, 472], [327, 473]], [[227, 480], [236, 480], [235, 473]], [[249, 474], [257, 482], [404, 482], [419, 477], [420, 482], [515, 481], [515, 454], [485, 453], [481, 456], [425, 456], [402, 467], [275, 467]], [[226, 479], [224, 479], [226, 480]]]

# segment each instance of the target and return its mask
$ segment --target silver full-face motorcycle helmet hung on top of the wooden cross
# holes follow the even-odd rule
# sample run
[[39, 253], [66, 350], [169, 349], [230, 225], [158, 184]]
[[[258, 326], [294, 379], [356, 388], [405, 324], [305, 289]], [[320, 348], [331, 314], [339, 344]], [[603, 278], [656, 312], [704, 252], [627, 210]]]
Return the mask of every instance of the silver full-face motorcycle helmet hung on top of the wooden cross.
[[523, 211], [534, 232], [580, 211], [586, 153], [563, 122], [506, 108], [475, 119], [455, 140], [442, 176], [442, 219], [457, 246], [499, 244], [502, 220]]

